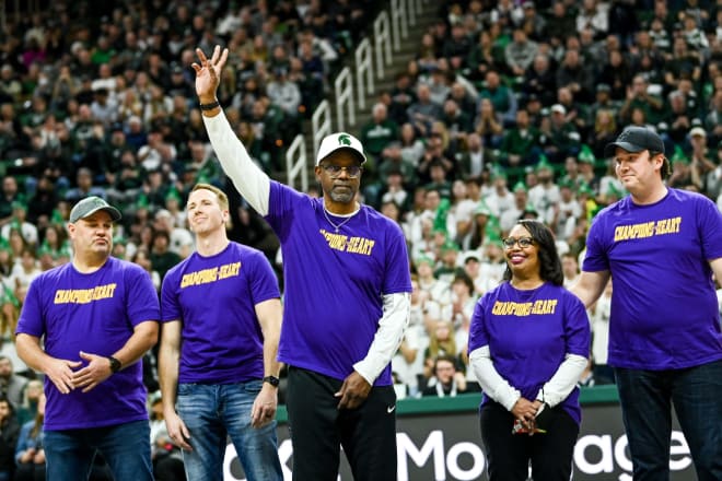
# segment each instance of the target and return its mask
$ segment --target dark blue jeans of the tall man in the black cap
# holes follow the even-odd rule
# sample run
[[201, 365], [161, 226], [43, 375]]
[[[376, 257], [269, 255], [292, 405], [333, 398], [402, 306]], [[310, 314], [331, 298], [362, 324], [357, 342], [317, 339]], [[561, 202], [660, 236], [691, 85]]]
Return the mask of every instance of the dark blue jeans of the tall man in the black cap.
[[672, 404], [700, 481], [722, 480], [722, 361], [686, 369], [615, 368], [636, 481], [669, 479]]

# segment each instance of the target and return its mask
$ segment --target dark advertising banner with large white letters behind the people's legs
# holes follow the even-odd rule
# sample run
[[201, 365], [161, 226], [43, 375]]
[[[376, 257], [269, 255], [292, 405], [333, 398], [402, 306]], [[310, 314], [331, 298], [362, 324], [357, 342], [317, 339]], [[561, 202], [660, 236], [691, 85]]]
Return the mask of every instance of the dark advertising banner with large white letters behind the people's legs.
[[[631, 460], [614, 387], [583, 392], [582, 426], [574, 448], [574, 480], [631, 481]], [[586, 398], [587, 402], [584, 402]], [[479, 395], [404, 400], [396, 422], [398, 481], [487, 480], [487, 460], [479, 434]], [[279, 413], [279, 456], [291, 479], [293, 450], [284, 414]], [[689, 448], [674, 419], [669, 453], [671, 479], [696, 479]], [[244, 480], [232, 445], [225, 457], [225, 481]], [[339, 481], [351, 481], [341, 456]]]

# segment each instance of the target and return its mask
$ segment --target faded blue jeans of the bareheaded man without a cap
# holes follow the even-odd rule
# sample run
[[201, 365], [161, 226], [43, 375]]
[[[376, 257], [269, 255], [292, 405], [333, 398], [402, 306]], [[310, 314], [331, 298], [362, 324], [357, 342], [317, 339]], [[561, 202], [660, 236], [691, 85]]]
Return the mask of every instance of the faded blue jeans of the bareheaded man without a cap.
[[176, 411], [190, 432], [191, 451], [183, 451], [188, 481], [223, 479], [226, 436], [231, 437], [248, 481], [281, 481], [276, 421], [251, 426], [253, 401], [261, 382], [179, 384]]

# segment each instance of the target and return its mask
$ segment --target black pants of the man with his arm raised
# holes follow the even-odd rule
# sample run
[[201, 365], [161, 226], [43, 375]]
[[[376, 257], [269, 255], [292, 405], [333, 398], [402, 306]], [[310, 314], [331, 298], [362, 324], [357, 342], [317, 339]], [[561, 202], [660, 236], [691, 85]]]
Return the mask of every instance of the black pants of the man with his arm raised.
[[338, 410], [342, 382], [290, 366], [289, 430], [294, 481], [336, 481], [343, 447], [356, 481], [396, 480], [396, 394], [373, 387], [357, 409]]

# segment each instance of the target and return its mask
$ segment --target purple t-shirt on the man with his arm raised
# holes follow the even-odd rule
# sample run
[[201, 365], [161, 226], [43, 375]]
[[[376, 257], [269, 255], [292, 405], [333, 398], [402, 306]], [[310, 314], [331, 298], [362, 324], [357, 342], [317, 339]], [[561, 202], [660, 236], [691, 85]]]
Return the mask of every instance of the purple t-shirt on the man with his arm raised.
[[[337, 234], [322, 199], [276, 181], [269, 204], [266, 219], [281, 241], [286, 284], [279, 361], [345, 379], [369, 352], [382, 296], [411, 292], [404, 234], [366, 206]], [[374, 385], [391, 384], [389, 364]]]

